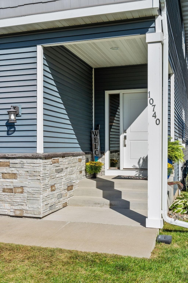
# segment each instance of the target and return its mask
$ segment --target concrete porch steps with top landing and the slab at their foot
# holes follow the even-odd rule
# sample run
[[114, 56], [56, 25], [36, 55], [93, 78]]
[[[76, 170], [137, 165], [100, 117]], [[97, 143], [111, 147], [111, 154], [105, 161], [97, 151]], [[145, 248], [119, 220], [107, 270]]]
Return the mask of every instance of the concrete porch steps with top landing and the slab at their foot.
[[115, 177], [80, 180], [68, 206], [45, 219], [145, 227], [147, 180]]

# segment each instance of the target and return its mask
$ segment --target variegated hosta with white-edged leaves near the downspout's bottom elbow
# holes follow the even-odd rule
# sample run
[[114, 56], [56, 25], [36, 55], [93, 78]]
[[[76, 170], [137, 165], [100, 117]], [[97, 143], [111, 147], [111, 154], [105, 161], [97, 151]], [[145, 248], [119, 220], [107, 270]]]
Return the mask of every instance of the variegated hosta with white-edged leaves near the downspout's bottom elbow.
[[188, 211], [188, 194], [185, 193], [177, 197], [176, 200], [169, 206], [169, 209], [174, 213], [187, 213]]

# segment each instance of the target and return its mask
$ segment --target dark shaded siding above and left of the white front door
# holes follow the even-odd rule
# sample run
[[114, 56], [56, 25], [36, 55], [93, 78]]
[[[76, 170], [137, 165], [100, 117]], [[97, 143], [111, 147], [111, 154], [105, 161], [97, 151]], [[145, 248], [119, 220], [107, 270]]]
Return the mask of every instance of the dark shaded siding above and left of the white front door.
[[105, 91], [147, 88], [147, 65], [95, 69], [95, 126], [100, 124], [100, 147], [105, 150]]

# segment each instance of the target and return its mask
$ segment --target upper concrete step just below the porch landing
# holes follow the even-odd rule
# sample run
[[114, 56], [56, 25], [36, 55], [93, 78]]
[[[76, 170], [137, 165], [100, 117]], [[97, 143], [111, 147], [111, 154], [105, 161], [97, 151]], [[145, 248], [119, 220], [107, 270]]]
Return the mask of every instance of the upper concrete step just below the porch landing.
[[130, 199], [139, 199], [139, 200], [147, 200], [147, 191], [140, 190], [100, 190], [96, 188], [82, 188], [78, 187], [74, 191], [75, 196], [85, 196], [85, 197], [101, 197], [101, 198], [130, 198]]

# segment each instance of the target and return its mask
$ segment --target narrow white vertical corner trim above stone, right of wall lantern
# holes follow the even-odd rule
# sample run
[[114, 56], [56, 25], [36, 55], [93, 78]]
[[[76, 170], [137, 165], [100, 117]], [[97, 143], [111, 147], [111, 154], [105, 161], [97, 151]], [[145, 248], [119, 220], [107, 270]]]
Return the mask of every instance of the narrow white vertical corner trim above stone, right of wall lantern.
[[43, 47], [37, 46], [37, 153], [43, 153]]

